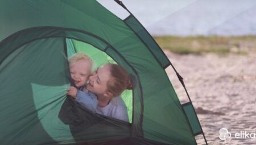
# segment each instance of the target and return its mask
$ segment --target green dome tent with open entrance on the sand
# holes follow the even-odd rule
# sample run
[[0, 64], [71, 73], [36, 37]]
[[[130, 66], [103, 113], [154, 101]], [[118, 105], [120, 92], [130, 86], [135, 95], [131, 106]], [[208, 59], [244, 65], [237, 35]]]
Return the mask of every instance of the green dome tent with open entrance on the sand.
[[[134, 88], [122, 94], [130, 122], [66, 96], [76, 52], [131, 74]], [[0, 144], [197, 144], [203, 133], [150, 34], [134, 15], [122, 20], [95, 0], [1, 0], [0, 62]]]

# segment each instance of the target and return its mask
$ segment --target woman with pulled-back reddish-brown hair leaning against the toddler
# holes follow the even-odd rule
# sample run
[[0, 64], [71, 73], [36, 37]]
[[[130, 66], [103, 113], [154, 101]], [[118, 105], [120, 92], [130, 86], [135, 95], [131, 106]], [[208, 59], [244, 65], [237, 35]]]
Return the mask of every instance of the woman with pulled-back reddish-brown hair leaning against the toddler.
[[95, 112], [129, 122], [127, 107], [120, 97], [125, 89], [131, 89], [129, 73], [117, 64], [105, 64], [89, 77], [86, 88], [96, 94]]

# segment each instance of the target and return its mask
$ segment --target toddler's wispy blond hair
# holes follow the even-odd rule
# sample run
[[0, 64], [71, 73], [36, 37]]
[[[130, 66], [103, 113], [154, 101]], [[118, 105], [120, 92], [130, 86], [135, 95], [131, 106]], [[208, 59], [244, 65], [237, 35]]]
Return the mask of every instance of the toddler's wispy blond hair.
[[79, 60], [85, 60], [85, 61], [89, 61], [90, 65], [93, 65], [93, 61], [92, 59], [90, 59], [90, 57], [88, 55], [86, 55], [83, 52], [78, 52], [73, 54], [69, 59], [68, 59], [68, 64], [69, 67], [72, 67], [72, 65], [74, 65], [75, 63], [77, 63], [77, 61]]

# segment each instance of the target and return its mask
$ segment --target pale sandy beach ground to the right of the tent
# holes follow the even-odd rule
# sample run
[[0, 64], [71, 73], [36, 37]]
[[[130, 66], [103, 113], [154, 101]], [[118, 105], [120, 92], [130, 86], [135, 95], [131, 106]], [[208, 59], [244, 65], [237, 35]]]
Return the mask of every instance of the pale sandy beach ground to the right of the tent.
[[[256, 134], [255, 52], [228, 56], [164, 53], [184, 78], [208, 144], [224, 144], [219, 138], [223, 127], [231, 133], [230, 138], [226, 136], [226, 144], [256, 144], [256, 138], [245, 135], [245, 131]], [[166, 71], [181, 103], [187, 102], [174, 70], [168, 67]], [[236, 133], [240, 134], [237, 138]], [[203, 135], [196, 139], [198, 144], [205, 144]]]

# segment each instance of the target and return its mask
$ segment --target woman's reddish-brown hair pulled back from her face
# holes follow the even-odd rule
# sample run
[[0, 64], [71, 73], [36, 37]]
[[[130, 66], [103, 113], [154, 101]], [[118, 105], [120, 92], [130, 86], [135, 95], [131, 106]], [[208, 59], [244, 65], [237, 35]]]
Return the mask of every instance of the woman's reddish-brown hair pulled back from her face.
[[108, 91], [113, 97], [120, 96], [125, 89], [132, 89], [129, 73], [118, 64], [107, 64], [110, 68], [110, 79], [107, 82]]

